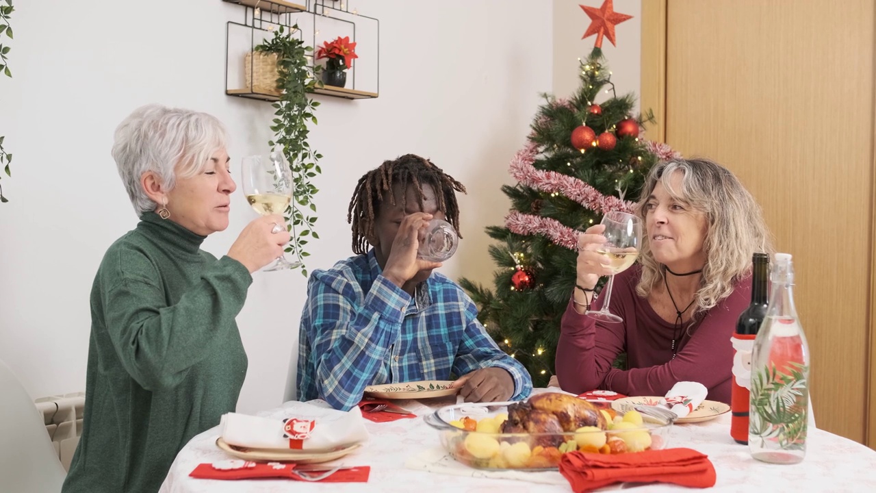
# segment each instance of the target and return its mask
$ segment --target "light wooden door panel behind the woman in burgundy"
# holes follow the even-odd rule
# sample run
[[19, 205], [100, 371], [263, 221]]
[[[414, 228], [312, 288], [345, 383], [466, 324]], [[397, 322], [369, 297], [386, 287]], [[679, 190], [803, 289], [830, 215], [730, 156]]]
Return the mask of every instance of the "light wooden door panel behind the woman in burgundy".
[[870, 0], [668, 0], [661, 118], [669, 145], [739, 176], [777, 249], [794, 254], [818, 426], [860, 442], [871, 350], [873, 15]]

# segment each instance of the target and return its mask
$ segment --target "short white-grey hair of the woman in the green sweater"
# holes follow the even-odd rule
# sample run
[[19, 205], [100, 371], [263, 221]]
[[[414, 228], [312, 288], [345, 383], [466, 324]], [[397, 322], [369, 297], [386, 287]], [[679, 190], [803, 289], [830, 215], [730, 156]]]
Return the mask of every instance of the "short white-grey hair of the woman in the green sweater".
[[173, 189], [177, 177], [201, 173], [227, 141], [225, 126], [207, 113], [160, 104], [134, 110], [116, 128], [112, 157], [137, 215], [159, 205], [140, 184], [144, 173], [152, 171], [167, 190]]

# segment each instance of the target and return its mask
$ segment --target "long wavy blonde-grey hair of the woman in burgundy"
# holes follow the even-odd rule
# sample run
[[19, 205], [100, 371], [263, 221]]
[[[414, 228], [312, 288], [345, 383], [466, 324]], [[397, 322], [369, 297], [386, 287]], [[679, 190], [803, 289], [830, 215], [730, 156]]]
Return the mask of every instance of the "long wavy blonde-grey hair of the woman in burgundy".
[[[671, 178], [682, 174], [682, 187], [672, 188]], [[706, 263], [696, 290], [696, 310], [708, 311], [729, 297], [735, 284], [751, 272], [752, 254], [773, 254], [773, 245], [760, 206], [752, 194], [727, 168], [707, 159], [663, 161], [651, 168], [634, 213], [646, 224], [648, 197], [657, 183], [669, 196], [702, 211], [708, 230], [703, 240]], [[641, 297], [663, 282], [664, 267], [653, 258], [648, 235], [642, 242], [639, 261], [642, 274], [636, 292]]]

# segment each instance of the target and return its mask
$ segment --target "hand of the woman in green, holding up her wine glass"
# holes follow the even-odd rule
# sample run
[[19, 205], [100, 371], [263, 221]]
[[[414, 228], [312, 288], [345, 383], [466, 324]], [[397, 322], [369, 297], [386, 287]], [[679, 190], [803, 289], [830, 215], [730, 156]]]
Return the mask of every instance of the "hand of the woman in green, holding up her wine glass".
[[[279, 232], [272, 232], [275, 225], [280, 226]], [[244, 264], [251, 274], [281, 256], [289, 238], [286, 220], [279, 214], [255, 218], [240, 232], [228, 256]]]

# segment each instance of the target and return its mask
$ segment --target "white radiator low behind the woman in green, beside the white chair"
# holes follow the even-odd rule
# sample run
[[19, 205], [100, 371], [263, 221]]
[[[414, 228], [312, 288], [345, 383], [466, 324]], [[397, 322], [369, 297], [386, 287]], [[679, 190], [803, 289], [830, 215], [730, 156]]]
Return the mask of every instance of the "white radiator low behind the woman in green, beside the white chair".
[[82, 410], [85, 409], [85, 393], [74, 392], [63, 396], [40, 397], [36, 400], [37, 410], [43, 415], [46, 432], [65, 469], [70, 461], [82, 434]]

